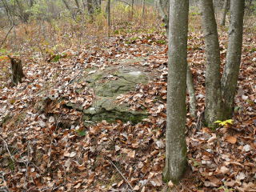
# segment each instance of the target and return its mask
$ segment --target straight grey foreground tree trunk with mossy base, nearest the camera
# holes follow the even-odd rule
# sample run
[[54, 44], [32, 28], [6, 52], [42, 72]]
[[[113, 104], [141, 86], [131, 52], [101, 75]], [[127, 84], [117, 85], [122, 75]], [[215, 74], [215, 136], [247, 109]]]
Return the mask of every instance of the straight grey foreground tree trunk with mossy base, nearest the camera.
[[[175, 184], [186, 170], [186, 69], [189, 0], [171, 0], [167, 80], [166, 166]], [[182, 21], [182, 22], [180, 22]]]

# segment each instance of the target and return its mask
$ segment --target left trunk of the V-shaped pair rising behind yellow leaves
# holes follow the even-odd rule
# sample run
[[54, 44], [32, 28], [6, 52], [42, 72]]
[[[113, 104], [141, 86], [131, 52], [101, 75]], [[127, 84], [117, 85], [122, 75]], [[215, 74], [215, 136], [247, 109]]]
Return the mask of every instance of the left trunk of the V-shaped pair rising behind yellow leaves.
[[222, 120], [222, 93], [220, 74], [220, 52], [217, 24], [212, 1], [200, 0], [202, 29], [206, 46], [206, 125], [213, 126]]

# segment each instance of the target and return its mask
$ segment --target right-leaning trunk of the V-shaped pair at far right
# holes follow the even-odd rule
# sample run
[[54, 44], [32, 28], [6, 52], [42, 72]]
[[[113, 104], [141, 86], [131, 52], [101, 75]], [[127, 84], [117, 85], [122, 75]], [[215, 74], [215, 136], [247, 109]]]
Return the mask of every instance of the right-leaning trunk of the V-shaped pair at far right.
[[224, 101], [224, 118], [232, 116], [234, 96], [236, 93], [238, 74], [242, 54], [242, 26], [245, 0], [231, 0], [229, 42], [226, 65], [222, 76], [222, 98]]

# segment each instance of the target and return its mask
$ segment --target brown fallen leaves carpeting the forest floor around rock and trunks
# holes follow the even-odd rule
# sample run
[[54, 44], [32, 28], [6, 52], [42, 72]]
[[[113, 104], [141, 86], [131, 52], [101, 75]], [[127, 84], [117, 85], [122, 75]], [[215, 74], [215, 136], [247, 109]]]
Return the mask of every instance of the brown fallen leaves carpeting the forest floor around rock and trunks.
[[[222, 65], [226, 30], [220, 32]], [[181, 191], [256, 191], [256, 34], [245, 31], [233, 124], [215, 129], [201, 122], [205, 101], [203, 36], [189, 33], [188, 62], [197, 94], [198, 118], [187, 114], [189, 171]], [[162, 31], [116, 34], [82, 43], [60, 54], [22, 52], [26, 78], [10, 86], [10, 63], [0, 70], [0, 189], [10, 191], [161, 191], [165, 164], [166, 36]], [[76, 78], [91, 67], [146, 57], [134, 66], [154, 71], [154, 80], [123, 95], [120, 102], [150, 114], [136, 125], [99, 122], [86, 127], [82, 113], [94, 90]], [[113, 62], [113, 60], [115, 62]], [[90, 71], [90, 70], [89, 70]], [[50, 100], [47, 98], [51, 98]], [[179, 122], [177, 122], [179, 123]], [[8, 150], [7, 150], [8, 149]]]

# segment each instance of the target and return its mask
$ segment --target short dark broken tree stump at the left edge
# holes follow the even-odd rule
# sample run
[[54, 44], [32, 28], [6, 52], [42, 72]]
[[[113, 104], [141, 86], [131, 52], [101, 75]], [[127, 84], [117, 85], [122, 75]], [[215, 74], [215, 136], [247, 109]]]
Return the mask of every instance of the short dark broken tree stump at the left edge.
[[11, 64], [11, 83], [12, 85], [16, 86], [19, 82], [22, 82], [22, 78], [25, 78], [25, 74], [22, 70], [22, 61], [19, 58], [10, 58], [10, 64]]

